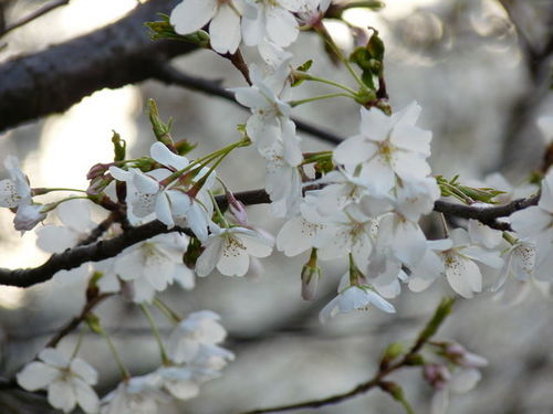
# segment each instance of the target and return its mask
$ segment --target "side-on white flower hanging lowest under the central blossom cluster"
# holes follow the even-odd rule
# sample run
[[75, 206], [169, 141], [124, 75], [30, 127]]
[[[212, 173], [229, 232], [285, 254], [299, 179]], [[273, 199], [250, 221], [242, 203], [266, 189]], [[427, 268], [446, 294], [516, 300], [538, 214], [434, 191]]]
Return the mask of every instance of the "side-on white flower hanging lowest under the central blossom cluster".
[[383, 299], [369, 286], [348, 286], [341, 290], [319, 314], [322, 323], [338, 314], [348, 314], [352, 310], [367, 310], [368, 306], [376, 306], [388, 314], [394, 314], [396, 309], [392, 304]]

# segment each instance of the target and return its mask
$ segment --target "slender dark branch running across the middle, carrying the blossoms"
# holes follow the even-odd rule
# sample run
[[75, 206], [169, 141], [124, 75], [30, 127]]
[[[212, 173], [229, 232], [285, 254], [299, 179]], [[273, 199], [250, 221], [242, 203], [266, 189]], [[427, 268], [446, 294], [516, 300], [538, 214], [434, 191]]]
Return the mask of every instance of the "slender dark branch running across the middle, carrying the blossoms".
[[[270, 202], [269, 195], [264, 190], [243, 191], [234, 193], [234, 197], [244, 205], [265, 204]], [[476, 219], [488, 225], [491, 223], [491, 225], [495, 225], [497, 227], [502, 223], [497, 223], [495, 219], [508, 216], [518, 210], [534, 205], [538, 203], [538, 200], [539, 197], [534, 195], [530, 199], [520, 199], [509, 204], [491, 208], [469, 206], [446, 201], [437, 201], [435, 211], [446, 215]], [[217, 195], [216, 201], [221, 209], [226, 209], [228, 205], [225, 195]], [[168, 230], [165, 224], [156, 220], [138, 227], [132, 227], [117, 237], [100, 241], [90, 245], [77, 246], [72, 250], [66, 250], [63, 253], [54, 254], [39, 267], [18, 269], [0, 268], [0, 285], [18, 287], [33, 286], [51, 279], [53, 275], [60, 270], [70, 270], [86, 262], [100, 262], [115, 257], [133, 244], [154, 237], [157, 234], [176, 231], [191, 234], [188, 229], [175, 227]]]

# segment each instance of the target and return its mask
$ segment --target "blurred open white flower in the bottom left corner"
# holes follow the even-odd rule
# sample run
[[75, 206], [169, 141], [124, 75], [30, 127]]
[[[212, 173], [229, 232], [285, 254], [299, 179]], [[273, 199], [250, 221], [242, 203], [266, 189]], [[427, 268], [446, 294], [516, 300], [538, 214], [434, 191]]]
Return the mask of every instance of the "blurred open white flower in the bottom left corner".
[[40, 361], [28, 364], [18, 373], [18, 383], [28, 391], [48, 389], [48, 401], [64, 413], [79, 404], [85, 413], [98, 411], [98, 397], [91, 385], [97, 381], [97, 373], [80, 358], [71, 360], [58, 350], [46, 348], [39, 353]]

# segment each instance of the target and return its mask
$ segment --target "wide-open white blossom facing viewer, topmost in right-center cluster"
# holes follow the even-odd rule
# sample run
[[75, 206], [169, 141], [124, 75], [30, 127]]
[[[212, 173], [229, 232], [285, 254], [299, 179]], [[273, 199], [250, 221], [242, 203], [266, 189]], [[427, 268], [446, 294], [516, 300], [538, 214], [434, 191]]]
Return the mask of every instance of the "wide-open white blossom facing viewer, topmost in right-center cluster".
[[425, 179], [430, 173], [426, 158], [430, 156], [431, 132], [415, 123], [420, 114], [417, 103], [392, 116], [377, 108], [361, 108], [361, 131], [347, 138], [334, 150], [336, 162], [345, 166], [362, 164], [369, 190], [387, 195], [403, 181]]

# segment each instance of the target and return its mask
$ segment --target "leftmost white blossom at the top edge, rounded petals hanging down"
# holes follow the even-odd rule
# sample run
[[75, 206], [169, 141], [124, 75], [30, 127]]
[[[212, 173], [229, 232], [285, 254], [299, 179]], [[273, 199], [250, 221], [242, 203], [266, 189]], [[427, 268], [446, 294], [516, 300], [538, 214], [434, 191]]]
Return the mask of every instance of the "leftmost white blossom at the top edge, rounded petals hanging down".
[[209, 22], [209, 42], [217, 53], [234, 53], [242, 39], [240, 19], [244, 11], [255, 17], [255, 9], [243, 0], [182, 0], [170, 14], [179, 34], [200, 30]]

